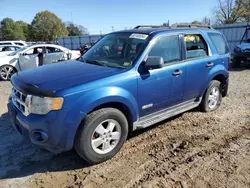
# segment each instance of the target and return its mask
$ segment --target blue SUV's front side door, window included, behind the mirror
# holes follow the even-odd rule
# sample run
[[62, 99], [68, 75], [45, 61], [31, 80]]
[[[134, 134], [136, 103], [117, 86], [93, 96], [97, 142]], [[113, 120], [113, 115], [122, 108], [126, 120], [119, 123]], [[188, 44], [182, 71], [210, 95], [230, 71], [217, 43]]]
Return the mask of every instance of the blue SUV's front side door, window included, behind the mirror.
[[[138, 105], [140, 117], [171, 107], [183, 101], [185, 64], [182, 63], [179, 35], [160, 36], [148, 56], [162, 57], [161, 69], [139, 71]], [[141, 67], [144, 65], [142, 64]]]

